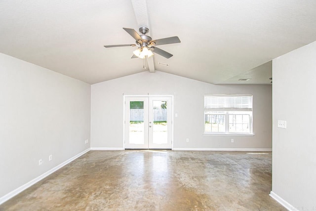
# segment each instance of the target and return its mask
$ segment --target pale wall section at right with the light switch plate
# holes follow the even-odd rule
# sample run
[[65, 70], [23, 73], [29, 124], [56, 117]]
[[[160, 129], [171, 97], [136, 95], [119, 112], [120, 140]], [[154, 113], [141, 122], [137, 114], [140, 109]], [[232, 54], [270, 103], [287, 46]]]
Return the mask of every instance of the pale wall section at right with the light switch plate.
[[[273, 192], [316, 210], [316, 42], [273, 60]], [[287, 121], [287, 128], [277, 127]]]

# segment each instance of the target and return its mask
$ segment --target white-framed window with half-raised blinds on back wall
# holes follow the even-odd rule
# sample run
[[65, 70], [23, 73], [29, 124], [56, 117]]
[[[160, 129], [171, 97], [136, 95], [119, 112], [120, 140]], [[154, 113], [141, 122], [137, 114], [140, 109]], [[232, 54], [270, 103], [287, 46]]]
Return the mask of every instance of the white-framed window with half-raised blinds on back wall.
[[204, 95], [205, 134], [252, 134], [252, 95]]

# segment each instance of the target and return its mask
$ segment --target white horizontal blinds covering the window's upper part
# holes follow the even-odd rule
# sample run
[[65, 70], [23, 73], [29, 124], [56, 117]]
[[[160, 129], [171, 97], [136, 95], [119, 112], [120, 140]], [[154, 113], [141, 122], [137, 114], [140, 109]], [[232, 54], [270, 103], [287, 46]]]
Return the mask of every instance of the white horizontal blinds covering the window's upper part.
[[206, 111], [252, 111], [252, 95], [204, 95]]

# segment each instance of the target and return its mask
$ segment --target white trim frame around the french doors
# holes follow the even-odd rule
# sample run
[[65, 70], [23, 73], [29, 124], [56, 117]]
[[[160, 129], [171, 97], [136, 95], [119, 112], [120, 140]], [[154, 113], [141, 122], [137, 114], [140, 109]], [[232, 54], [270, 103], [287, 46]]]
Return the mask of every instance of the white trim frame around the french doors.
[[172, 102], [172, 106], [171, 106], [171, 150], [173, 150], [173, 95], [165, 95], [165, 94], [161, 94], [161, 95], [124, 95], [123, 94], [123, 149], [125, 150], [125, 97], [171, 97], [171, 102]]

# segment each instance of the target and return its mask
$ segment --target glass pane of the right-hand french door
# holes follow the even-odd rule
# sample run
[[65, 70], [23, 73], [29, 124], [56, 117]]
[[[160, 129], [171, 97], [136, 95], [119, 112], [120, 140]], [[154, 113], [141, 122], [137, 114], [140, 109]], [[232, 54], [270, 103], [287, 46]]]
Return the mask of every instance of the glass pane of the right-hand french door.
[[168, 143], [167, 101], [153, 100], [153, 143]]

